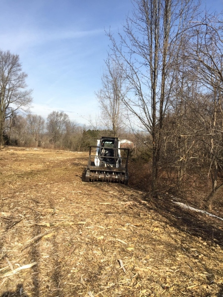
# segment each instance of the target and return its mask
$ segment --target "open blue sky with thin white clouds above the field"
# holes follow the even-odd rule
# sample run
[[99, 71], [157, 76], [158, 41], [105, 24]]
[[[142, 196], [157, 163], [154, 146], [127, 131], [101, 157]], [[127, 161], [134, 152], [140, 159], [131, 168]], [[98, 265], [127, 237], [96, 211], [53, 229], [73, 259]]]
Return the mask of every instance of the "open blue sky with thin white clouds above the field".
[[[223, 0], [201, 2], [223, 10]], [[19, 54], [33, 89], [30, 111], [44, 118], [64, 111], [88, 125], [99, 114], [105, 30], [121, 30], [131, 0], [0, 0], [0, 10], [0, 49]]]

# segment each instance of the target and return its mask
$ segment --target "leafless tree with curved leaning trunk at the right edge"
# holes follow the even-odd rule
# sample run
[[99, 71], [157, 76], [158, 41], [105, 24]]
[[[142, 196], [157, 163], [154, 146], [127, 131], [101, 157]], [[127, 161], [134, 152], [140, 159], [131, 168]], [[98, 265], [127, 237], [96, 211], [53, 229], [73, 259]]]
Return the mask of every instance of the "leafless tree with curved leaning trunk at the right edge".
[[218, 186], [218, 172], [223, 165], [223, 17], [206, 13], [202, 20], [194, 22], [185, 58], [189, 69], [203, 86], [206, 107], [199, 113], [206, 151], [209, 155], [212, 192], [207, 198], [211, 209]]

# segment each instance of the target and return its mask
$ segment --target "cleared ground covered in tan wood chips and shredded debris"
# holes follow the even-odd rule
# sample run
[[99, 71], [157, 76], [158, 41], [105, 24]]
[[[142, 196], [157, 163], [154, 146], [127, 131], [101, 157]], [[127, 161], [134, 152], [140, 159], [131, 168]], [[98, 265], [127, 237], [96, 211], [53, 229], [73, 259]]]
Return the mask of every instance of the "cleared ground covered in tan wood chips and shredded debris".
[[86, 183], [87, 160], [0, 151], [0, 297], [223, 296], [223, 221]]

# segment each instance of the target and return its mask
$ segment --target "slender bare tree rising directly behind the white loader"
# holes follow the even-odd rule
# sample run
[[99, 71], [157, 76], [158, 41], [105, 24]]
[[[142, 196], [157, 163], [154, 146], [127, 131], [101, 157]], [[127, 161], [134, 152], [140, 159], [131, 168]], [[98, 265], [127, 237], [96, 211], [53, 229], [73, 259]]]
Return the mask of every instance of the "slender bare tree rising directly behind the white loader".
[[111, 56], [105, 61], [106, 70], [102, 76], [102, 88], [96, 93], [101, 108], [101, 122], [117, 137], [124, 125], [122, 98], [127, 93], [123, 65]]

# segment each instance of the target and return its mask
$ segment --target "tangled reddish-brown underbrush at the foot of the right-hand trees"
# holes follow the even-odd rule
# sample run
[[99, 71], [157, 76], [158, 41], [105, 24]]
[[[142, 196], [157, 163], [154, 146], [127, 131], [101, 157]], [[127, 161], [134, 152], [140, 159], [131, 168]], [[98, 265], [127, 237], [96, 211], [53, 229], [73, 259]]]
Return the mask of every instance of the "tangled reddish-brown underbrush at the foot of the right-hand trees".
[[[145, 191], [147, 198], [151, 198], [152, 162], [143, 159], [130, 160], [128, 165], [129, 185], [137, 190]], [[218, 183], [223, 183], [223, 176], [219, 174]], [[180, 184], [177, 180], [177, 170], [160, 168], [158, 178], [158, 196], [160, 198], [177, 198], [180, 202], [192, 207], [206, 210], [206, 201], [212, 191], [212, 180], [208, 176], [208, 169], [197, 168], [193, 172], [185, 172]], [[212, 201], [212, 212], [219, 215], [223, 212], [223, 189], [220, 189]]]

